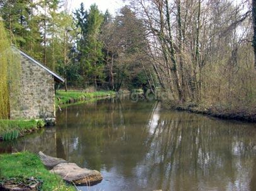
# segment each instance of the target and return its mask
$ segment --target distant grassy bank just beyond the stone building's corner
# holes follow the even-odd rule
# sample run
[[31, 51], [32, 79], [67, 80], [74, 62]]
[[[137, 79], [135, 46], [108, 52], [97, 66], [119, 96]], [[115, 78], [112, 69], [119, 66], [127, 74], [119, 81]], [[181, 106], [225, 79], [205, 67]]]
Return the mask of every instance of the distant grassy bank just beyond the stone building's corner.
[[95, 98], [106, 98], [107, 96], [116, 95], [115, 91], [94, 91], [94, 92], [84, 92], [75, 90], [58, 90], [55, 93], [55, 105], [64, 105], [69, 103], [74, 103], [77, 101], [92, 100]]

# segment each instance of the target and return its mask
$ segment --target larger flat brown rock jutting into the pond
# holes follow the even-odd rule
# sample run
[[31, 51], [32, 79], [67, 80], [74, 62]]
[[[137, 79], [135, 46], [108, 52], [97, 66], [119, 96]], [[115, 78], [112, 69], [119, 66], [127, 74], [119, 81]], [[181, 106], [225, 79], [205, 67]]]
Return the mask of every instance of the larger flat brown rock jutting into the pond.
[[50, 172], [60, 175], [67, 182], [74, 182], [75, 185], [94, 185], [103, 180], [97, 170], [80, 168], [75, 163], [59, 163]]

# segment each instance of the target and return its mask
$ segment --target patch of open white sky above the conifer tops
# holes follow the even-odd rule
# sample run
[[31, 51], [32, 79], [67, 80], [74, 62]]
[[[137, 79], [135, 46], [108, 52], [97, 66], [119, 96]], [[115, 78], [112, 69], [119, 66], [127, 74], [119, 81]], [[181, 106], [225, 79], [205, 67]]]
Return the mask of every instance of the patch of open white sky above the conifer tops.
[[125, 5], [122, 0], [72, 0], [71, 9], [74, 11], [75, 9], [79, 8], [80, 4], [84, 3], [84, 7], [89, 9], [91, 4], [96, 3], [99, 10], [106, 11], [109, 10], [111, 14], [115, 14], [117, 9], [120, 9]]

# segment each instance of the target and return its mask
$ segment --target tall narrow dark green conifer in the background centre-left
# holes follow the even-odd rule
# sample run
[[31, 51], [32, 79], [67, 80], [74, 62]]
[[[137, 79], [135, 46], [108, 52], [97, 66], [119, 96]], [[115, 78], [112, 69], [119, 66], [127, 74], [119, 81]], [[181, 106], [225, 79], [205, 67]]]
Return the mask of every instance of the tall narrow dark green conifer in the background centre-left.
[[96, 4], [92, 4], [89, 12], [84, 11], [84, 5], [75, 13], [77, 26], [81, 29], [81, 38], [78, 41], [79, 61], [81, 65], [81, 75], [84, 82], [90, 85], [103, 81], [103, 43], [99, 39], [101, 26], [103, 24], [103, 14]]

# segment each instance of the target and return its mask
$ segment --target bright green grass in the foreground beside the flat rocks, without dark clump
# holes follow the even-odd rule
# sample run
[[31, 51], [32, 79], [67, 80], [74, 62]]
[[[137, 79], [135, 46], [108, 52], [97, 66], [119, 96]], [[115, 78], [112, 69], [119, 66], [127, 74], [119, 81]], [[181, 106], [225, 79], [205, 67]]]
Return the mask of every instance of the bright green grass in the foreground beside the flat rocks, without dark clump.
[[40, 158], [29, 152], [0, 155], [0, 178], [22, 176], [35, 177], [43, 180], [43, 191], [74, 191], [74, 187], [57, 175], [50, 173], [40, 161]]

